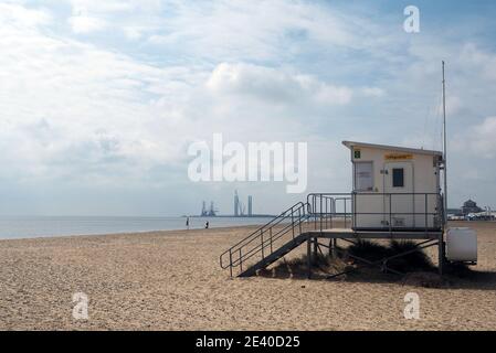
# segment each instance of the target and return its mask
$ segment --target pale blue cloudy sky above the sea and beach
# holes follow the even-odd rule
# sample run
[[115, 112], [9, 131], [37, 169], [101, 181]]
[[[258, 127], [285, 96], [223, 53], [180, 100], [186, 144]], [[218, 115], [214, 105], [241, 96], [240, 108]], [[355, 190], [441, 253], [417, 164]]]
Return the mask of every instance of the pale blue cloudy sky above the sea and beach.
[[[403, 10], [420, 11], [420, 32]], [[0, 215], [278, 213], [348, 192], [342, 140], [442, 148], [496, 206], [494, 1], [0, 1]], [[192, 182], [188, 147], [307, 142], [308, 188]]]

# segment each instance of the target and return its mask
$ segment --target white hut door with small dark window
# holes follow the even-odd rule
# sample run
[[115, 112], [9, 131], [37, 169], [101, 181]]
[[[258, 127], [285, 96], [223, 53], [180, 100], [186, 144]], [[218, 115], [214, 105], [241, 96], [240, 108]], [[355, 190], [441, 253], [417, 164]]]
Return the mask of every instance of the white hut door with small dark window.
[[383, 178], [383, 224], [391, 228], [414, 228], [413, 163], [387, 162]]

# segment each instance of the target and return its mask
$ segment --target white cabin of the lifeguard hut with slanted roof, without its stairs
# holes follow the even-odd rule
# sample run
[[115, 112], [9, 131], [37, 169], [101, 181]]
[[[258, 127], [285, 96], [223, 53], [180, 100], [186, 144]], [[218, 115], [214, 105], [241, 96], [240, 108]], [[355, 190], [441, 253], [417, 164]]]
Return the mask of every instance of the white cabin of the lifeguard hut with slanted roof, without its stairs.
[[342, 143], [351, 152], [353, 229], [442, 229], [441, 151]]

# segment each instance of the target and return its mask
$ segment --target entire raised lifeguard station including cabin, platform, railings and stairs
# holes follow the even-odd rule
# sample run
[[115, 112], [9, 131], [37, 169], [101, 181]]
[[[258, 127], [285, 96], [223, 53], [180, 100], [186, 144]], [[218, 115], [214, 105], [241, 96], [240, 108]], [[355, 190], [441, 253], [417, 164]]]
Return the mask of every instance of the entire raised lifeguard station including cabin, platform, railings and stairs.
[[[442, 152], [367, 142], [342, 143], [350, 150], [352, 191], [308, 194], [305, 202], [287, 208], [224, 252], [220, 257], [222, 268], [229, 268], [231, 276], [235, 269], [238, 276], [253, 276], [306, 243], [310, 277], [313, 256], [320, 246], [334, 254], [338, 239], [348, 243], [360, 239], [415, 242], [415, 248], [397, 254], [394, 258], [437, 246], [440, 274], [445, 261], [476, 263], [477, 242], [473, 231], [454, 228], [445, 236], [440, 185], [445, 165]], [[327, 245], [321, 239], [330, 242]], [[388, 267], [391, 258], [356, 260], [400, 275]]]

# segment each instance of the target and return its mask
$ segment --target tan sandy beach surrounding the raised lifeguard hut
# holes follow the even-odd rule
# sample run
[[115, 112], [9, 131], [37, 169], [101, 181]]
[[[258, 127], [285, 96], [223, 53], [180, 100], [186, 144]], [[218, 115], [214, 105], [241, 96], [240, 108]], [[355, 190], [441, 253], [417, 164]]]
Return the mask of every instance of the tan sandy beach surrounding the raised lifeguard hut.
[[[253, 226], [0, 240], [0, 329], [496, 330], [496, 224], [461, 225], [477, 229], [479, 261], [443, 288], [231, 279], [219, 255]], [[420, 320], [403, 317], [412, 291]], [[87, 320], [72, 315], [75, 292], [88, 296]]]

